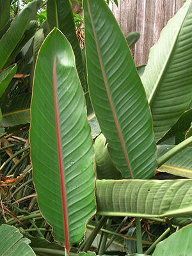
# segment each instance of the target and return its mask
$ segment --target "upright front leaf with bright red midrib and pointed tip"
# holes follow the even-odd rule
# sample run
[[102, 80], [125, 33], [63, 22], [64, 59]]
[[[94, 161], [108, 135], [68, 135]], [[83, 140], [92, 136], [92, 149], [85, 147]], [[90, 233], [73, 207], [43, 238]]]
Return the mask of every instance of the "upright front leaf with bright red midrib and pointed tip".
[[95, 212], [94, 152], [72, 47], [56, 28], [36, 61], [30, 143], [40, 211], [68, 252]]

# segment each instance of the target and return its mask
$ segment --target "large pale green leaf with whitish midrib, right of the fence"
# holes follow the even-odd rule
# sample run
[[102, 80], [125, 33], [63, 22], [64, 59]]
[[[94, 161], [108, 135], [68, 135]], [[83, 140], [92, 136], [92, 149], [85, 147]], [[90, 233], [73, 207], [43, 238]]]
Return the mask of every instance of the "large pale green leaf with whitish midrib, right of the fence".
[[152, 47], [141, 80], [147, 92], [160, 140], [192, 98], [192, 1], [188, 0], [163, 29]]

